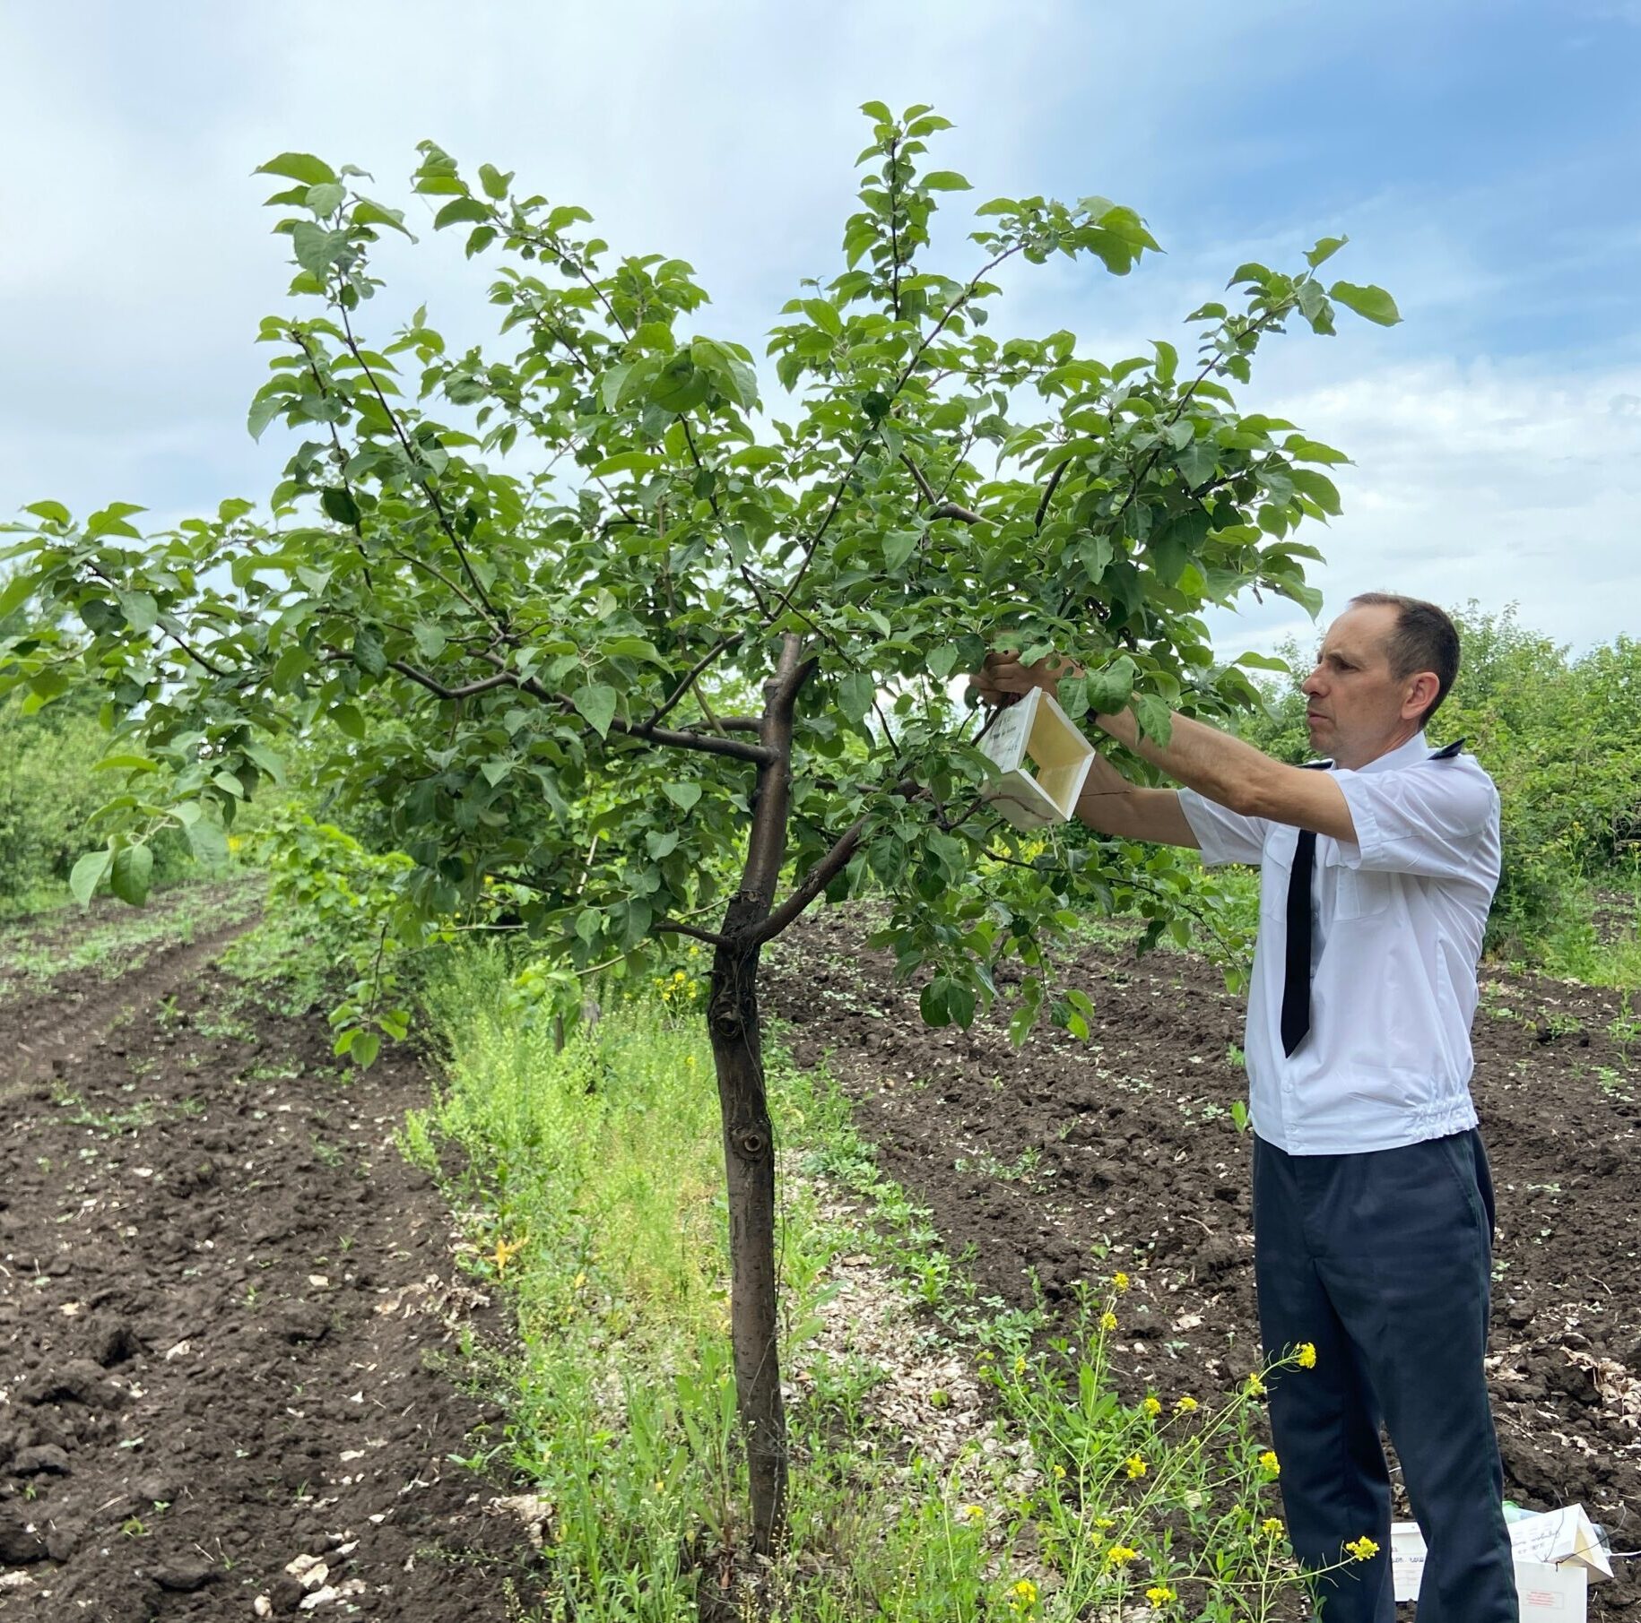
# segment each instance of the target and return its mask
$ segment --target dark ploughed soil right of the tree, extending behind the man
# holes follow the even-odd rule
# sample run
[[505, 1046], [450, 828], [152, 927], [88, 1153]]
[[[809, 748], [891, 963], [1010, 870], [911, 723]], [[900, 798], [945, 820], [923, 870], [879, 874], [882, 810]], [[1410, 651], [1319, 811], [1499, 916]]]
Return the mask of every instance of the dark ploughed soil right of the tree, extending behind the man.
[[[1062, 974], [1093, 998], [1091, 1041], [1044, 1030], [1016, 1051], [1001, 1025], [927, 1030], [862, 934], [827, 913], [773, 946], [766, 1005], [798, 1062], [830, 1062], [883, 1169], [988, 1292], [1063, 1313], [1078, 1279], [1134, 1275], [1127, 1402], [1227, 1392], [1260, 1359], [1231, 1115], [1242, 1000], [1201, 961], [1090, 949]], [[1641, 1030], [1605, 990], [1487, 974], [1475, 1056], [1506, 1493], [1582, 1500], [1615, 1549], [1641, 1549]], [[1590, 1590], [1592, 1618], [1641, 1616], [1638, 1567]]]

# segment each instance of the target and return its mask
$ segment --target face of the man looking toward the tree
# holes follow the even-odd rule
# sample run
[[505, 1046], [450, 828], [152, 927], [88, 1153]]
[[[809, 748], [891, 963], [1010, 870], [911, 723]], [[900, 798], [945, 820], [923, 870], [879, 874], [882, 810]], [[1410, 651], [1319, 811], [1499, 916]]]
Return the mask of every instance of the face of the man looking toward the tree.
[[1434, 697], [1415, 692], [1419, 677], [1390, 674], [1387, 644], [1396, 628], [1388, 603], [1346, 610], [1323, 638], [1316, 669], [1300, 684], [1311, 748], [1342, 767], [1362, 767], [1418, 731]]

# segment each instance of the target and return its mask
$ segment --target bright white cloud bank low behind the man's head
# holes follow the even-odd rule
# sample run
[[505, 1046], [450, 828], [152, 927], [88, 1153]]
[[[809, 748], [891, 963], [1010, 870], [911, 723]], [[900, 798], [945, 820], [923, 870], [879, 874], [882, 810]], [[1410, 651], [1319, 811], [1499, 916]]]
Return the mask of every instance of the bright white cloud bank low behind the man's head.
[[[1521, 605], [1534, 630], [1585, 648], [1633, 633], [1641, 603], [1641, 366], [1557, 375], [1528, 366], [1410, 362], [1282, 395], [1339, 446], [1344, 516], [1310, 539], [1324, 621], [1354, 592]], [[1268, 648], [1313, 633], [1291, 605], [1216, 616]]]

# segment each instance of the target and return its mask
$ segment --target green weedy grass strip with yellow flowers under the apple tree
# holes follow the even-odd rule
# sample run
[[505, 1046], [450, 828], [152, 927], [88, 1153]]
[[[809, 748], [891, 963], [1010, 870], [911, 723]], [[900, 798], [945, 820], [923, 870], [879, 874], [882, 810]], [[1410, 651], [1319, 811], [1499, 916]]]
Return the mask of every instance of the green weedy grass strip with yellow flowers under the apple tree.
[[[453, 956], [425, 1002], [446, 1075], [404, 1148], [445, 1179], [468, 1266], [517, 1318], [515, 1356], [469, 1352], [509, 1410], [482, 1457], [528, 1487], [548, 1567], [520, 1618], [1295, 1615], [1257, 1405], [1314, 1351], [1249, 1371], [1219, 1408], [1186, 1390], [1122, 1405], [1106, 1369], [1127, 1277], [1090, 1256], [1052, 1339], [978, 1298], [842, 1093], [779, 1052], [791, 1530], [748, 1567], [717, 1095], [686, 985], [561, 1052], [499, 951]], [[1341, 1566], [1374, 1554], [1359, 1541]]]

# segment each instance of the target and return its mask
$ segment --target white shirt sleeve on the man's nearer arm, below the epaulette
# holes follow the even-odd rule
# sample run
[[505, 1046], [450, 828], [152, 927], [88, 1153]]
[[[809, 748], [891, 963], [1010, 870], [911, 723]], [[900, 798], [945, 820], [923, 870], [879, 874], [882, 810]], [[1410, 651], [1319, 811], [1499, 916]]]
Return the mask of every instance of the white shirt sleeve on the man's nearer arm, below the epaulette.
[[1334, 861], [1377, 874], [1475, 879], [1495, 844], [1498, 790], [1477, 767], [1429, 761], [1406, 772], [1337, 772], [1355, 843]]

